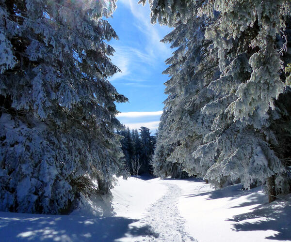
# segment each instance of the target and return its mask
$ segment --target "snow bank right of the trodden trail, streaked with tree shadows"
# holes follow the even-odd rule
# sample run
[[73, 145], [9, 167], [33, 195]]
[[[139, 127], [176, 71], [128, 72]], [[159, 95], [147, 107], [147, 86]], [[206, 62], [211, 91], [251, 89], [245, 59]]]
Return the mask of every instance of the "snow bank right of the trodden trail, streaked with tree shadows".
[[[172, 181], [173, 182], [173, 181]], [[198, 242], [291, 241], [291, 203], [268, 203], [261, 188], [213, 190], [201, 181], [174, 181], [183, 190], [178, 209]]]

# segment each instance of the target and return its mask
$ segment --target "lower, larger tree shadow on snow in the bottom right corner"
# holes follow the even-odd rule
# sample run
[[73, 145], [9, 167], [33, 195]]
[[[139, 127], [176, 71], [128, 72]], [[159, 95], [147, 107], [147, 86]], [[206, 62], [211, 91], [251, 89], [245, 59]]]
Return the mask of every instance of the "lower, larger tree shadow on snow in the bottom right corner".
[[[251, 220], [252, 221], [248, 221]], [[228, 219], [235, 231], [275, 230], [270, 240], [291, 240], [291, 204], [290, 202], [276, 201], [268, 205], [259, 205], [251, 212], [239, 214]], [[244, 221], [244, 222], [243, 222]]]

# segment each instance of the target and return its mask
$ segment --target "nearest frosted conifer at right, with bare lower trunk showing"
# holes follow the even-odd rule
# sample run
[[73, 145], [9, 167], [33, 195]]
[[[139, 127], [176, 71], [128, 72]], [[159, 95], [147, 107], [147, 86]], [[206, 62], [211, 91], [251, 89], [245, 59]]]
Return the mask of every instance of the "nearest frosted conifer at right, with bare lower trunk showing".
[[217, 97], [203, 110], [216, 115], [216, 134], [195, 155], [212, 147], [209, 157], [217, 160], [207, 177], [219, 181], [226, 175], [245, 187], [254, 180], [267, 181], [271, 200], [275, 178], [285, 173], [271, 148], [275, 140], [270, 121], [277, 119], [274, 100], [284, 92], [279, 71], [285, 44], [280, 36], [290, 7], [285, 0], [215, 0], [199, 9], [200, 15], [213, 19], [219, 13], [205, 37], [212, 41], [209, 48], [219, 59], [221, 75], [209, 85]]

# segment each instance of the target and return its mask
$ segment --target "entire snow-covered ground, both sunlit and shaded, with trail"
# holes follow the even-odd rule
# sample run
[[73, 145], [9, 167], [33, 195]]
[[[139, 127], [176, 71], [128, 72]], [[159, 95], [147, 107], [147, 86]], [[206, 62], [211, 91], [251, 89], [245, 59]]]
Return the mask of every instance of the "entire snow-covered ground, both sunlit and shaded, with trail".
[[159, 178], [120, 179], [112, 193], [114, 216], [0, 212], [0, 241], [291, 241], [290, 196], [267, 204], [260, 188], [215, 191], [194, 179]]

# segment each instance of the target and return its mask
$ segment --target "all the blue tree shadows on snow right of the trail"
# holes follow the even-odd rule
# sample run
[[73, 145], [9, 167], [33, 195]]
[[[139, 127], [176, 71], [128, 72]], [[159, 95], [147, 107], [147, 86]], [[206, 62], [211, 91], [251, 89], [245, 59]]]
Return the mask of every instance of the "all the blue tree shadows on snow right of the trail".
[[[228, 221], [232, 224], [234, 231], [258, 231], [273, 230], [275, 234], [265, 237], [269, 240], [291, 241], [291, 203], [277, 200], [268, 204], [268, 197], [263, 193], [258, 193], [260, 187], [251, 190], [242, 190], [242, 185], [231, 185], [219, 190], [210, 192], [195, 191], [195, 194], [184, 195], [187, 197], [207, 196], [205, 200], [229, 198], [233, 200], [242, 197], [242, 202], [232, 208], [240, 208], [251, 205], [258, 205], [251, 209], [251, 212], [233, 216]], [[198, 193], [198, 194], [197, 194]]]

